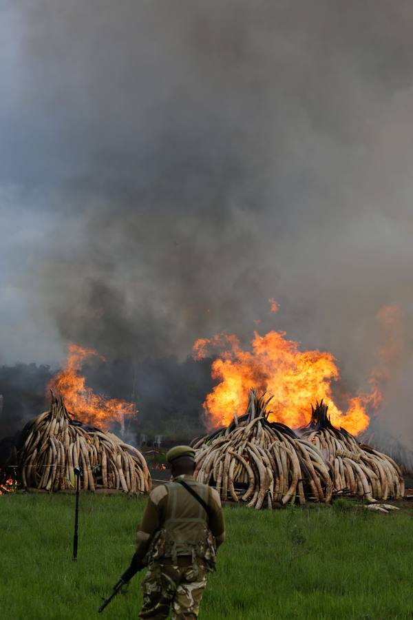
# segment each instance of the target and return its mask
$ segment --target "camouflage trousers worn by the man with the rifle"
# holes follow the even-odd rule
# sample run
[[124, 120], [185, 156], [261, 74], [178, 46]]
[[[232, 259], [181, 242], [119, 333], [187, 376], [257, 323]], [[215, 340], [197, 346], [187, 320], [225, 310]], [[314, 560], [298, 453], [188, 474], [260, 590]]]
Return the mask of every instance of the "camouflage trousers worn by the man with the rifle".
[[154, 562], [142, 581], [143, 606], [140, 619], [162, 620], [172, 606], [172, 620], [193, 620], [207, 585], [207, 568], [198, 561], [198, 575], [190, 560], [177, 564]]

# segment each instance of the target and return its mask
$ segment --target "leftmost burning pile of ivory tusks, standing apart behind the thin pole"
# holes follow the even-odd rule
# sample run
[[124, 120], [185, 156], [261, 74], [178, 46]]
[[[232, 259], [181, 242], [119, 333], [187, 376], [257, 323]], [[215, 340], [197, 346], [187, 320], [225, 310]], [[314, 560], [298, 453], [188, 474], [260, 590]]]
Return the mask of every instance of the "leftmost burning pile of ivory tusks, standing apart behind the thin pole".
[[83, 426], [52, 396], [52, 407], [29, 422], [18, 453], [21, 484], [50, 492], [74, 487], [74, 468], [83, 468], [83, 489], [145, 493], [151, 476], [136, 448], [112, 433]]

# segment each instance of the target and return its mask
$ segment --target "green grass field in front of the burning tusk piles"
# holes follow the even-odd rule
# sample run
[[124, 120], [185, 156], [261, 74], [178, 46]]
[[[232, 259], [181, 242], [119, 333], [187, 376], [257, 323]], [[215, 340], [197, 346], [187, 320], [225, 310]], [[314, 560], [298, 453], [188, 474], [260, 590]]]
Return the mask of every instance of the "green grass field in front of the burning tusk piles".
[[[0, 618], [99, 617], [101, 597], [129, 564], [144, 499], [81, 495], [78, 562], [72, 561], [74, 497], [0, 497]], [[354, 508], [225, 508], [227, 540], [200, 618], [404, 619], [413, 617], [413, 521]], [[103, 612], [133, 619], [134, 577]]]

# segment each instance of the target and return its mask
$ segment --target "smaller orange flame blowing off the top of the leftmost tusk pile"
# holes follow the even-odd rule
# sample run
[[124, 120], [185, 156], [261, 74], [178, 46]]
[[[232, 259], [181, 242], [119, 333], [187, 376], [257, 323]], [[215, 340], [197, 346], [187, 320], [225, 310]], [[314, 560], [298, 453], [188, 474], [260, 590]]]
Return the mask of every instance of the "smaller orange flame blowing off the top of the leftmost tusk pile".
[[125, 417], [134, 415], [137, 410], [131, 402], [116, 398], [105, 399], [87, 387], [85, 377], [79, 372], [85, 358], [92, 355], [104, 359], [94, 349], [84, 349], [78, 344], [70, 343], [65, 368], [56, 373], [47, 389], [63, 396], [67, 409], [80, 417], [82, 422], [96, 424], [107, 431], [112, 422], [123, 425]]

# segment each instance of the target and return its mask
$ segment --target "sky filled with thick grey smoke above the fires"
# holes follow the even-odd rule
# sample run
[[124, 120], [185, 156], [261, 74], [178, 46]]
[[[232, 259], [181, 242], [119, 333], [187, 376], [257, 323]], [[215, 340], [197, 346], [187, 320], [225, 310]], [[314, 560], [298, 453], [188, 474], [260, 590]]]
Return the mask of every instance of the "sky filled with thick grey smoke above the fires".
[[356, 390], [399, 304], [407, 408], [412, 32], [408, 0], [0, 0], [0, 363], [277, 329]]

